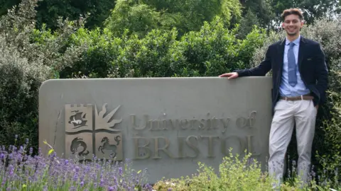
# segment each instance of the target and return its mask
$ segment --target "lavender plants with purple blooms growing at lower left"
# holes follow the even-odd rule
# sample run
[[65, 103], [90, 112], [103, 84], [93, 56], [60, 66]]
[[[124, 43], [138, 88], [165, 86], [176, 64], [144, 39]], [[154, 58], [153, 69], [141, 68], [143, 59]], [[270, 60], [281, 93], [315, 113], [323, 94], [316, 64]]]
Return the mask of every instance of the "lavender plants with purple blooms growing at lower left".
[[22, 146], [0, 146], [0, 190], [152, 190], [147, 170], [136, 171], [131, 161], [114, 162], [93, 156], [58, 157], [50, 150], [33, 156], [33, 149]]

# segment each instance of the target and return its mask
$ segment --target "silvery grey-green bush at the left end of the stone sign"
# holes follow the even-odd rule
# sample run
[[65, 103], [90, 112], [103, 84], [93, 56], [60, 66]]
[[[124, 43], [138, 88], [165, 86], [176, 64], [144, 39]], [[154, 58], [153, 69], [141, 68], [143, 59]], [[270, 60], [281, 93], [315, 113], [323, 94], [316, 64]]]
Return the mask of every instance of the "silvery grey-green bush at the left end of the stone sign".
[[0, 145], [20, 134], [37, 149], [40, 84], [82, 52], [82, 46], [65, 47], [77, 25], [65, 21], [55, 34], [34, 28], [37, 1], [22, 1], [0, 18]]

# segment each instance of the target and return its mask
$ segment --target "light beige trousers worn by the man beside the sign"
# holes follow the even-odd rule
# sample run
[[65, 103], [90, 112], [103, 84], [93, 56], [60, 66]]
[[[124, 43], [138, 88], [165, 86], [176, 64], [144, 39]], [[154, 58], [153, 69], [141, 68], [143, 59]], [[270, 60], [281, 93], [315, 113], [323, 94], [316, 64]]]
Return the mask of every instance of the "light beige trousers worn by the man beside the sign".
[[268, 161], [269, 174], [277, 181], [274, 187], [283, 182], [284, 158], [295, 123], [297, 173], [303, 183], [308, 183], [316, 114], [317, 108], [314, 107], [313, 100], [278, 100], [276, 103], [269, 137]]

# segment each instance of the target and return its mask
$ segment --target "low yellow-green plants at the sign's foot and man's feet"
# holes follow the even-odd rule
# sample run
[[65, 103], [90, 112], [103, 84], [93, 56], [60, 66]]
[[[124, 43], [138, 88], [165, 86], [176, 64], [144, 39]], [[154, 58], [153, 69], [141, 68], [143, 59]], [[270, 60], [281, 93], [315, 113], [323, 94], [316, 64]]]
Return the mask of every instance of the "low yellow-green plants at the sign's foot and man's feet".
[[[232, 155], [232, 149], [229, 150], [229, 156], [222, 158], [219, 173], [217, 170], [198, 162], [199, 169], [197, 173], [181, 178], [162, 178], [155, 185], [154, 190], [274, 190], [272, 187], [276, 184], [274, 177], [266, 171], [261, 170], [261, 165], [251, 154], [239, 156]], [[328, 166], [328, 165], [327, 165]], [[332, 166], [328, 166], [331, 168]], [[327, 168], [325, 168], [327, 169]], [[295, 175], [296, 169], [291, 168], [291, 175]], [[322, 173], [323, 178], [314, 178], [314, 171], [310, 172], [310, 183], [301, 183], [296, 176], [290, 177], [291, 181], [283, 182], [279, 190], [340, 190], [340, 183], [337, 184], [337, 170], [335, 170], [335, 182], [324, 179], [326, 174]], [[323, 180], [323, 181], [321, 181]], [[335, 184], [336, 183], [336, 184]]]

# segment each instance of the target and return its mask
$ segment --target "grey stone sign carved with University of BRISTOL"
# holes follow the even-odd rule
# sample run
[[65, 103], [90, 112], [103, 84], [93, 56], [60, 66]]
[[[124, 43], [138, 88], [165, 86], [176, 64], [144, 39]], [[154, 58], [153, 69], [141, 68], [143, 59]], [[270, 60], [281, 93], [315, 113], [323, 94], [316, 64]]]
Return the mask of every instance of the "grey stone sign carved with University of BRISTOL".
[[266, 165], [271, 78], [55, 79], [39, 92], [39, 146], [60, 156], [133, 160], [149, 181], [218, 172], [222, 158], [251, 152]]

